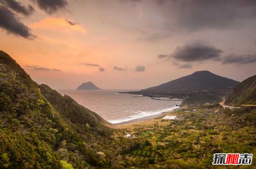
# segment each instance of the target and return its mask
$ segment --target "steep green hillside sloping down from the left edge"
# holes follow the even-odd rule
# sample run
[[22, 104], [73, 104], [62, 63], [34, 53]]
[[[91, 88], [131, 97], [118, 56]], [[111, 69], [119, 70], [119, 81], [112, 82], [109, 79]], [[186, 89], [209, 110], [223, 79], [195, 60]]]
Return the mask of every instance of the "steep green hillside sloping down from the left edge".
[[33, 82], [0, 51], [1, 169], [110, 168], [118, 152], [111, 148], [110, 125], [69, 96]]

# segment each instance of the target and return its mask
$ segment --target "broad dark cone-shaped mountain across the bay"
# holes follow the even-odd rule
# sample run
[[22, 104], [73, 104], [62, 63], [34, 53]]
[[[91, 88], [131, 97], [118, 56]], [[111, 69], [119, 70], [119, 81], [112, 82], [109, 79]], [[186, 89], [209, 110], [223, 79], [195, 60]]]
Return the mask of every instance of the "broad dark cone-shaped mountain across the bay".
[[141, 92], [190, 92], [202, 90], [231, 90], [239, 82], [218, 76], [209, 71], [197, 71], [191, 75], [164, 83], [159, 86], [149, 87]]

